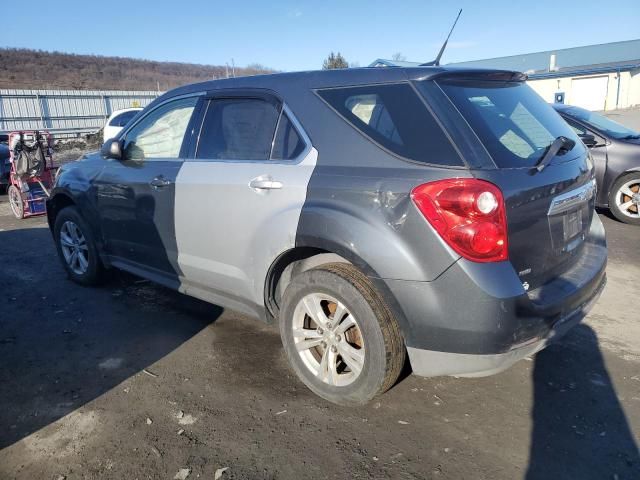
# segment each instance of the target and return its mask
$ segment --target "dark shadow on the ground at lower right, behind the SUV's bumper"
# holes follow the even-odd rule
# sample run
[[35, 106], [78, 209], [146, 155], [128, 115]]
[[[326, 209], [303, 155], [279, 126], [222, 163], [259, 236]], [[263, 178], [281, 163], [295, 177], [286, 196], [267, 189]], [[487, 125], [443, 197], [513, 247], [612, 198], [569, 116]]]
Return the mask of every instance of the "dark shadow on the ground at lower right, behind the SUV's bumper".
[[535, 357], [527, 480], [640, 478], [640, 453], [595, 332], [574, 327]]

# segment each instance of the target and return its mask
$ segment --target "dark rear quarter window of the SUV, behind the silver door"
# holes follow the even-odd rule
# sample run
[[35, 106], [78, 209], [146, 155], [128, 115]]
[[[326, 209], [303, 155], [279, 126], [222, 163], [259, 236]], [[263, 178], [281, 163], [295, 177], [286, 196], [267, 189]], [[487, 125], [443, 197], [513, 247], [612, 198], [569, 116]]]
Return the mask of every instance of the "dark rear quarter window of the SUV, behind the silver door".
[[331, 88], [318, 94], [351, 125], [396, 155], [462, 166], [451, 142], [408, 83]]

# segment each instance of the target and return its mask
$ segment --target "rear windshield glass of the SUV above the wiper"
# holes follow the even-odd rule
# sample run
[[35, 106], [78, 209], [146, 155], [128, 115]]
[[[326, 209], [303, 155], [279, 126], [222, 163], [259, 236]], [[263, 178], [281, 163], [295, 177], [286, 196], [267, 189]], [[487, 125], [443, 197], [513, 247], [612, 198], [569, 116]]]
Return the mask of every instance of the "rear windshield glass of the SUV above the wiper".
[[576, 142], [567, 160], [584, 153], [571, 127], [524, 83], [447, 80], [439, 85], [500, 168], [534, 166], [561, 135]]

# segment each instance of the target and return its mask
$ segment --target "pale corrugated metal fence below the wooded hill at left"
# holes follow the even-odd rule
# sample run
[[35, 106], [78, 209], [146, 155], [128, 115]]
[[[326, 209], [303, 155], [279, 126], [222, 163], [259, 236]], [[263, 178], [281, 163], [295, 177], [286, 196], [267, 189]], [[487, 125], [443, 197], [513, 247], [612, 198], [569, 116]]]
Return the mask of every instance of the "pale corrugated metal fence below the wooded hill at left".
[[56, 138], [100, 130], [115, 110], [144, 107], [162, 92], [0, 89], [0, 132], [48, 130]]

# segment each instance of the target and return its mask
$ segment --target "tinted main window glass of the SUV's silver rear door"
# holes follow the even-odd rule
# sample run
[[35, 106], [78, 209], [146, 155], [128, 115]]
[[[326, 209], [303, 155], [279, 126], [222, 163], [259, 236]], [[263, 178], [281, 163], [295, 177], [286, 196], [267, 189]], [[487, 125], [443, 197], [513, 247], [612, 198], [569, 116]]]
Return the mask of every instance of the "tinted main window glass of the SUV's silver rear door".
[[261, 99], [210, 101], [196, 158], [267, 160], [279, 114], [276, 105]]

